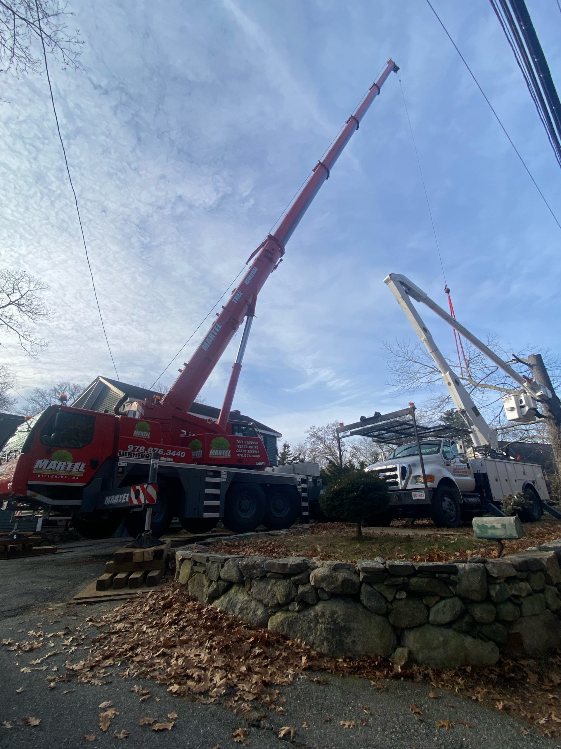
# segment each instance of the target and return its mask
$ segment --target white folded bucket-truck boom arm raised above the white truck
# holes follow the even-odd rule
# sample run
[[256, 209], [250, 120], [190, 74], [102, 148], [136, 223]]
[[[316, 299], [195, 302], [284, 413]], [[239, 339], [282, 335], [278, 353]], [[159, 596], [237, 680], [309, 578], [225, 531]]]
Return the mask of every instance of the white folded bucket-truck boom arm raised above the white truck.
[[[438, 304], [434, 300], [432, 300], [427, 294], [425, 294], [422, 289], [416, 286], [406, 276], [401, 276], [399, 273], [390, 273], [390, 275], [384, 279], [384, 283], [388, 285], [391, 293], [394, 297], [396, 297], [397, 303], [399, 304], [403, 312], [405, 312], [405, 316], [411, 323], [413, 330], [415, 331], [415, 333], [417, 333], [420, 341], [423, 343], [426, 350], [432, 357], [432, 360], [434, 360], [436, 366], [440, 370], [442, 379], [444, 380], [444, 384], [446, 385], [448, 392], [450, 392], [450, 396], [454, 402], [454, 405], [456, 406], [457, 410], [459, 410], [459, 413], [462, 414], [465, 422], [470, 428], [473, 444], [476, 447], [485, 448], [486, 446], [490, 446], [492, 449], [497, 449], [497, 433], [493, 429], [491, 429], [487, 422], [485, 422], [485, 419], [479, 412], [476, 404], [473, 403], [470, 394], [462, 385], [462, 382], [460, 381], [458, 375], [456, 375], [450, 364], [442, 355], [441, 351], [435, 343], [435, 339], [432, 338], [431, 333], [429, 332], [426, 324], [423, 322], [423, 319], [417, 312], [417, 309], [415, 309], [411, 300], [421, 302], [429, 307], [429, 309], [432, 309], [433, 312], [438, 315], [438, 317], [442, 318], [451, 327], [453, 327], [454, 330], [457, 330], [458, 333], [460, 333], [462, 336], [468, 339], [468, 341], [473, 343], [473, 345], [476, 346], [476, 348], [478, 348], [479, 351], [482, 352], [482, 354], [485, 354], [485, 356], [488, 357], [498, 367], [500, 367], [503, 372], [506, 372], [509, 377], [512, 377], [512, 380], [518, 383], [518, 385], [522, 389], [523, 394], [526, 396], [526, 398], [524, 398], [524, 402], [525, 404], [527, 404], [527, 406], [530, 407], [530, 410], [532, 404], [534, 404], [535, 401], [542, 401], [551, 398], [551, 392], [547, 387], [537, 382], [537, 380], [530, 380], [530, 378], [522, 377], [518, 374], [518, 372], [515, 372], [515, 370], [512, 369], [512, 367], [504, 362], [500, 357], [498, 357], [497, 354], [494, 353], [494, 351], [491, 351], [488, 346], [485, 346], [482, 341], [479, 341], [476, 336], [473, 336], [473, 333], [470, 333], [467, 328], [465, 328], [462, 324], [460, 324], [457, 320], [455, 320], [447, 312], [445, 312], [444, 309], [441, 308], [441, 306], [438, 306]], [[516, 392], [515, 390], [513, 390], [512, 392], [515, 395], [518, 395], [518, 392]], [[503, 398], [503, 401], [506, 400], [507, 398]], [[508, 411], [507, 417], [510, 418]]]

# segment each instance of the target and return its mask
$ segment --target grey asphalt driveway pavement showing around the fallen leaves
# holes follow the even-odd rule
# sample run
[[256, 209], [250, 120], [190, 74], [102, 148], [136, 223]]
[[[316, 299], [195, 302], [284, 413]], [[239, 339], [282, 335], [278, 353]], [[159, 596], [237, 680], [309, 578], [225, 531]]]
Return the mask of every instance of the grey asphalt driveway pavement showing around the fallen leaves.
[[[57, 631], [65, 626], [81, 627], [86, 640], [73, 655], [79, 660], [81, 649], [88, 654], [88, 640], [95, 628], [87, 627], [85, 619], [100, 611], [111, 610], [111, 604], [67, 605], [82, 587], [102, 573], [105, 560], [111, 557], [122, 540], [79, 542], [61, 547], [65, 554], [52, 557], [31, 557], [25, 560], [0, 562], [0, 639], [28, 639], [28, 631]], [[429, 698], [428, 685], [389, 681], [387, 689], [374, 689], [364, 679], [330, 676], [319, 685], [306, 676], [283, 688], [285, 714], [264, 711], [260, 718], [245, 721], [220, 705], [200, 705], [172, 697], [154, 682], [134, 682], [150, 690], [144, 703], [130, 691], [133, 682], [108, 673], [102, 685], [58, 682], [49, 689], [49, 674], [64, 671], [68, 655], [53, 655], [45, 661], [46, 670], [22, 672], [29, 661], [40, 655], [16, 654], [7, 646], [0, 647], [1, 700], [0, 724], [9, 721], [13, 728], [0, 725], [0, 749], [67, 749], [88, 746], [85, 734], [96, 736], [92, 745], [114, 746], [114, 732], [125, 729], [129, 736], [123, 746], [144, 748], [162, 746], [186, 749], [221, 749], [240, 746], [232, 733], [247, 728], [245, 739], [250, 746], [278, 748], [282, 727], [296, 730], [292, 743], [309, 749], [479, 749], [485, 746], [508, 749], [545, 749], [560, 745], [554, 739], [542, 738], [532, 727], [483, 708], [463, 697], [444, 693], [441, 699]], [[23, 688], [23, 691], [16, 692]], [[64, 691], [67, 694], [64, 694]], [[158, 699], [159, 698], [159, 699]], [[111, 701], [119, 711], [111, 727], [102, 733], [98, 726], [99, 704]], [[423, 711], [423, 721], [411, 712], [410, 703]], [[370, 714], [361, 706], [367, 706]], [[155, 733], [149, 725], [138, 721], [146, 715], [156, 721], [167, 721], [168, 713], [177, 713], [171, 731]], [[22, 718], [40, 718], [36, 727], [19, 725]], [[328, 718], [328, 721], [325, 719]], [[367, 725], [361, 726], [361, 718]], [[437, 728], [436, 722], [446, 720], [450, 730]], [[340, 721], [355, 722], [348, 729]], [[463, 721], [464, 724], [457, 721]], [[302, 724], [307, 727], [302, 727]], [[469, 724], [469, 726], [465, 725]]]

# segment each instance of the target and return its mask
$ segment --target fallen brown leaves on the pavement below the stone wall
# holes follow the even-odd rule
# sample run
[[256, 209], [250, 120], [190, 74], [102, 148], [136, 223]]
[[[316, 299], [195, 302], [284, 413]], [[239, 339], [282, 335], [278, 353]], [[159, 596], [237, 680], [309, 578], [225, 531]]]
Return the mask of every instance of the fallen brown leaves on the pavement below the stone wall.
[[[369, 679], [373, 690], [387, 688], [381, 683], [382, 679], [426, 682], [431, 689], [429, 697], [435, 700], [444, 696], [443, 690], [461, 694], [487, 707], [524, 718], [540, 733], [561, 736], [559, 652], [540, 661], [500, 658], [493, 667], [458, 670], [430, 667], [400, 670], [388, 658], [334, 660], [318, 655], [300, 642], [286, 640], [266, 629], [252, 628], [214, 607], [205, 607], [190, 598], [184, 586], [175, 583], [150, 592], [145, 598], [125, 601], [105, 616], [88, 619], [88, 625], [99, 628], [89, 654], [87, 649], [81, 649], [80, 661], [73, 662], [69, 658], [60, 671], [53, 667], [56, 675], [46, 675], [46, 689], [53, 680], [76, 679], [102, 685], [107, 676], [114, 678], [118, 674], [124, 679], [152, 679], [166, 685], [171, 694], [200, 703], [224, 700], [242, 715], [247, 716], [252, 706], [257, 705], [282, 715], [286, 698], [275, 687], [289, 685], [298, 675], [312, 670]], [[81, 628], [82, 625], [77, 625], [76, 634], [72, 636], [64, 632], [64, 641], [68, 644], [62, 647], [62, 652], [71, 655], [76, 650], [75, 643], [85, 639]], [[48, 648], [43, 656], [46, 658], [55, 649], [57, 639], [55, 633], [31, 631], [21, 643], [5, 640], [2, 644], [19, 659], [25, 653]], [[32, 642], [37, 643], [37, 647], [29, 647]], [[33, 668], [43, 670], [44, 666]], [[31, 671], [31, 667], [22, 670], [25, 669]], [[311, 675], [310, 680], [319, 688], [324, 688], [329, 681], [325, 676]], [[138, 685], [133, 685], [131, 691], [138, 694], [140, 700], [150, 699], [150, 691]], [[361, 709], [370, 714], [369, 706], [361, 706]], [[410, 709], [422, 719], [422, 712], [417, 712], [419, 709], [414, 703]], [[99, 711], [99, 728], [106, 733], [118, 712], [111, 703], [102, 701]], [[165, 732], [171, 730], [176, 718], [176, 713], [170, 712], [168, 721], [159, 722], [146, 716], [140, 723]], [[32, 726], [37, 725], [40, 718], [22, 718], [22, 721]], [[9, 721], [4, 721], [1, 727], [11, 726]], [[445, 725], [442, 727], [449, 730]], [[289, 733], [287, 731], [283, 738], [288, 739]], [[243, 732], [238, 738], [241, 744], [248, 741]]]

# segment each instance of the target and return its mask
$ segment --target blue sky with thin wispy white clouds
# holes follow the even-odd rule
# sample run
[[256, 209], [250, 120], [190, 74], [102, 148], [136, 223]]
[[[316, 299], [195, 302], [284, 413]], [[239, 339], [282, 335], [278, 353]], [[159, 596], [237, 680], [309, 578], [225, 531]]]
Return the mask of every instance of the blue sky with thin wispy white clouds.
[[[71, 4], [85, 70], [52, 62], [52, 81], [122, 380], [156, 379], [390, 56], [458, 318], [514, 350], [559, 352], [561, 231], [424, 1]], [[561, 85], [561, 13], [527, 5]], [[561, 215], [559, 167], [491, 5], [435, 8]], [[10, 345], [0, 361], [24, 395], [111, 377], [46, 78], [0, 85], [1, 263], [49, 282], [54, 311], [37, 360]], [[381, 340], [412, 336], [390, 272], [445, 303], [397, 76], [260, 294], [233, 407], [298, 440], [310, 424], [406, 404], [385, 384]], [[426, 319], [452, 351], [450, 330]], [[203, 389], [209, 404], [221, 404], [237, 342]]]

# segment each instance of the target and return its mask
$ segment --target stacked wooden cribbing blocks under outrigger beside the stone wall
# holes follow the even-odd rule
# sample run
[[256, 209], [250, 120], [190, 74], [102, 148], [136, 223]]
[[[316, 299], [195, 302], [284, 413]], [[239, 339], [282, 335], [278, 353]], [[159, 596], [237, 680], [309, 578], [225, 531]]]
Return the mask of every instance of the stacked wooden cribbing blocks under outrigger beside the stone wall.
[[151, 546], [147, 549], [121, 548], [105, 562], [105, 574], [97, 578], [97, 592], [126, 592], [142, 586], [153, 587], [162, 580], [168, 564], [171, 545]]

